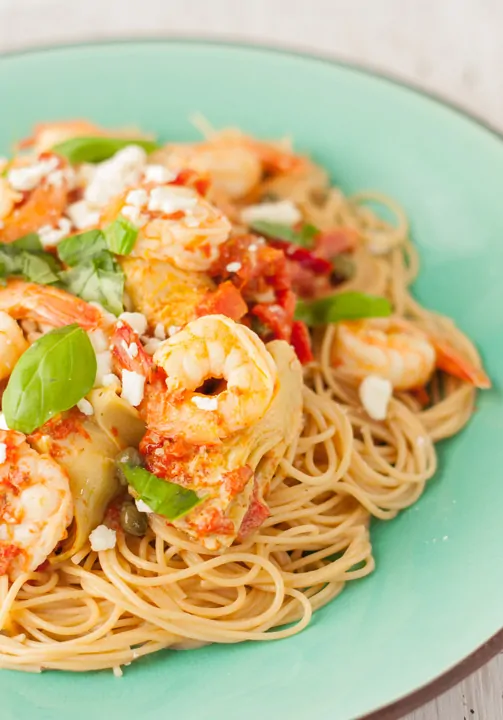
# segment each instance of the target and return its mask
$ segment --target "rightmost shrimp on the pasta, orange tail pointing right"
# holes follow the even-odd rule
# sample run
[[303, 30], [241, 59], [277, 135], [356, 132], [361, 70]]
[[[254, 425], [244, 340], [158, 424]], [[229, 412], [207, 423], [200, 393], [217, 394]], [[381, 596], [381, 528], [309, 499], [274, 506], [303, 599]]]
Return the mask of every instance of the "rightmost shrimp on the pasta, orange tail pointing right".
[[339, 323], [333, 361], [360, 377], [387, 378], [396, 390], [423, 387], [436, 367], [476, 387], [490, 386], [485, 373], [448, 343], [400, 318]]

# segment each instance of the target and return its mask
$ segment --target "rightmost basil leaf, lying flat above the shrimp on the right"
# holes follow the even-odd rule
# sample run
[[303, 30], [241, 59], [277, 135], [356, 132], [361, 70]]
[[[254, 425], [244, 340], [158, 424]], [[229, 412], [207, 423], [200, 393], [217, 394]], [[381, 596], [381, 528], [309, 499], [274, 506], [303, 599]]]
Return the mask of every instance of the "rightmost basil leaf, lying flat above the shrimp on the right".
[[298, 300], [296, 320], [307, 325], [326, 325], [342, 320], [361, 320], [367, 317], [388, 317], [392, 308], [389, 300], [360, 292], [347, 292], [306, 302]]

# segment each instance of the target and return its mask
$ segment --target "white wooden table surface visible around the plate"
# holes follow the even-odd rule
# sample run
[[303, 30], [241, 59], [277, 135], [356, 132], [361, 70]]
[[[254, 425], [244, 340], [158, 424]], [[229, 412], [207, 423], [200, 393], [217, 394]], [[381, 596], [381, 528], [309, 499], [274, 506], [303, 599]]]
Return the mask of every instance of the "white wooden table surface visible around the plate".
[[[503, 0], [0, 0], [0, 52], [142, 34], [313, 48], [391, 72], [503, 130]], [[404, 720], [503, 720], [503, 656]]]

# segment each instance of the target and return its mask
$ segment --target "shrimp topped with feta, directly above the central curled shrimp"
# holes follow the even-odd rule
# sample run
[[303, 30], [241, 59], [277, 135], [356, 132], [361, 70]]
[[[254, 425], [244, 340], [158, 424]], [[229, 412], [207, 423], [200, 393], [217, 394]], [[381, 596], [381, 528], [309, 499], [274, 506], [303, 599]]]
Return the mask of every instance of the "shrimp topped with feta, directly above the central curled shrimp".
[[140, 226], [132, 257], [167, 260], [181, 270], [207, 270], [231, 231], [216, 207], [180, 185], [133, 188], [112, 202], [102, 220], [119, 213]]

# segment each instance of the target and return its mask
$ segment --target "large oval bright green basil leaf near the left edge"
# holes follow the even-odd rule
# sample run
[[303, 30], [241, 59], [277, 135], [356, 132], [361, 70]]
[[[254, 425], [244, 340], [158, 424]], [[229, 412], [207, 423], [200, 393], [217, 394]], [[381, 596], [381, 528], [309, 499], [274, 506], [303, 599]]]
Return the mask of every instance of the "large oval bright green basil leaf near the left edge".
[[69, 410], [86, 395], [96, 377], [96, 355], [78, 325], [42, 335], [21, 355], [2, 398], [12, 430], [31, 433]]

